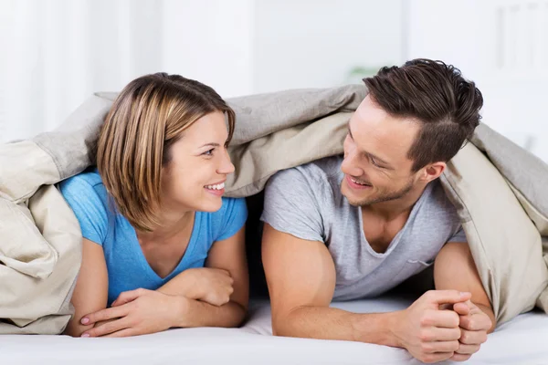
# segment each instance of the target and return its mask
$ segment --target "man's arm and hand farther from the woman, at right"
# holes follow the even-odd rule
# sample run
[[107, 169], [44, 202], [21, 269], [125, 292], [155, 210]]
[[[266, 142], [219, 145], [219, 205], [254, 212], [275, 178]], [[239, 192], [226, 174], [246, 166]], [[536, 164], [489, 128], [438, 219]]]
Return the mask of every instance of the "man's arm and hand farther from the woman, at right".
[[468, 291], [472, 295], [466, 303], [453, 306], [459, 315], [461, 337], [452, 360], [468, 360], [497, 322], [467, 243], [451, 242], [441, 249], [436, 257], [434, 280], [437, 289]]

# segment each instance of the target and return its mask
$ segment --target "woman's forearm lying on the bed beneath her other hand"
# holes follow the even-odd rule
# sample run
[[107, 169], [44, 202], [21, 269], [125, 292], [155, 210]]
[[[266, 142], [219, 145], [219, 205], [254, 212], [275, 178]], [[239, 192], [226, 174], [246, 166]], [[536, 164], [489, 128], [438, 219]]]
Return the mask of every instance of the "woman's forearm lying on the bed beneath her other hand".
[[233, 301], [216, 307], [187, 297], [180, 297], [180, 299], [180, 310], [174, 327], [232, 328], [239, 326], [246, 318], [246, 308]]

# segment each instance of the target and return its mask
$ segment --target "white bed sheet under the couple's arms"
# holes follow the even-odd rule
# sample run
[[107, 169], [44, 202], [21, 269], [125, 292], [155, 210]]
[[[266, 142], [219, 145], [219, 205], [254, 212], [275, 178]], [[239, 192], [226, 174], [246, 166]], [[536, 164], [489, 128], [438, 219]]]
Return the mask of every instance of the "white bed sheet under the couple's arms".
[[[406, 308], [395, 297], [334, 303], [354, 312]], [[268, 302], [250, 306], [243, 328], [171, 329], [127, 339], [0, 336], [0, 364], [417, 364], [404, 349], [271, 336]], [[448, 361], [445, 363], [449, 363]], [[467, 364], [548, 364], [548, 316], [523, 314], [490, 335]]]

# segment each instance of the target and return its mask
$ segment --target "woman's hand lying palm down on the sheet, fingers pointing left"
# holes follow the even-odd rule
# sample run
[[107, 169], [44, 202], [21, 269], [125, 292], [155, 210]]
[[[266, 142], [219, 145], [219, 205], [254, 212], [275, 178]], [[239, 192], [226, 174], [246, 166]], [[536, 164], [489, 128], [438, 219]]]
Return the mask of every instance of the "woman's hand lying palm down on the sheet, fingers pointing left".
[[128, 337], [160, 332], [171, 328], [181, 313], [184, 297], [158, 291], [136, 289], [121, 293], [111, 308], [101, 309], [83, 317], [82, 325], [93, 325], [82, 337]]

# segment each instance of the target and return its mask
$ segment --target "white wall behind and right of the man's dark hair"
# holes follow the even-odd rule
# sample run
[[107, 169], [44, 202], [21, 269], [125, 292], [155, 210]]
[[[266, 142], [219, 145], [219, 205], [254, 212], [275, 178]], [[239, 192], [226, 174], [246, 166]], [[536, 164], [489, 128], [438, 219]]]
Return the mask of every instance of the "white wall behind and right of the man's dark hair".
[[548, 3], [413, 0], [408, 45], [476, 81], [483, 121], [548, 161]]

